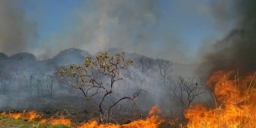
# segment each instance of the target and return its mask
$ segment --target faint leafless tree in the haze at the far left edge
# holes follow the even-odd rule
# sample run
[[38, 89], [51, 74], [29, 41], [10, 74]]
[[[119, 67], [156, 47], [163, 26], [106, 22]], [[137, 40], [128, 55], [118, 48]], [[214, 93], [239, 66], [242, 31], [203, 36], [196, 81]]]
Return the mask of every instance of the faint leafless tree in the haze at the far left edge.
[[5, 95], [6, 89], [12, 84], [11, 75], [2, 72], [0, 73], [0, 91]]

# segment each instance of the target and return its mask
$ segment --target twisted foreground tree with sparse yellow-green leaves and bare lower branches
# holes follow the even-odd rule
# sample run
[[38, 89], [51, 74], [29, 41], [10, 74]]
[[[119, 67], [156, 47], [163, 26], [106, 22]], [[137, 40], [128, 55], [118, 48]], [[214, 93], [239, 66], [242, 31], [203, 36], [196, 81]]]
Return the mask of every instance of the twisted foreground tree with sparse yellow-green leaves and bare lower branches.
[[[127, 70], [133, 62], [132, 59], [125, 60], [124, 55], [124, 52], [116, 53], [115, 56], [102, 53], [96, 56], [97, 60], [91, 60], [89, 56], [86, 56], [82, 66], [71, 64], [65, 70], [60, 70], [61, 79], [65, 80], [72, 89], [80, 90], [83, 94], [83, 97], [77, 97], [97, 106], [101, 123], [108, 123], [110, 110], [118, 102], [127, 100], [135, 103], [139, 95], [145, 92], [143, 89], [138, 89], [137, 92], [129, 95], [119, 89], [118, 83], [124, 79], [122, 71]], [[113, 95], [117, 93], [124, 93], [124, 95], [119, 98], [117, 98], [119, 95], [116, 95], [113, 98]], [[110, 104], [105, 109], [106, 118], [104, 118], [103, 103]]]

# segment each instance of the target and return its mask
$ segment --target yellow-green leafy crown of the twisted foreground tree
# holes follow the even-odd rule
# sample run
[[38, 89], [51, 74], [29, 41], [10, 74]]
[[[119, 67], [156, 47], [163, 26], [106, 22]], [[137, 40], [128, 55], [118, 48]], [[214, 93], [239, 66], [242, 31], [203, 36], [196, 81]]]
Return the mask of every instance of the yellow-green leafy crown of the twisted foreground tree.
[[[72, 76], [76, 78], [76, 83], [74, 81], [68, 81], [73, 86], [73, 89], [82, 88], [83, 85], [91, 84], [93, 87], [96, 87], [97, 84], [99, 87], [103, 87], [104, 83], [101, 81], [95, 81], [94, 75], [90, 73], [90, 69], [94, 69], [98, 74], [103, 74], [108, 76], [113, 81], [122, 80], [122, 77], [118, 77], [120, 70], [127, 69], [131, 63], [132, 59], [125, 60], [125, 52], [116, 53], [115, 56], [108, 55], [108, 53], [102, 53], [96, 55], [96, 60], [91, 60], [89, 56], [85, 56], [83, 65], [75, 65], [71, 63], [69, 67], [60, 70], [60, 75]], [[62, 77], [62, 78], [63, 78]]]

